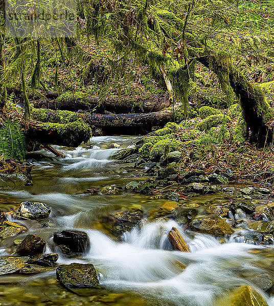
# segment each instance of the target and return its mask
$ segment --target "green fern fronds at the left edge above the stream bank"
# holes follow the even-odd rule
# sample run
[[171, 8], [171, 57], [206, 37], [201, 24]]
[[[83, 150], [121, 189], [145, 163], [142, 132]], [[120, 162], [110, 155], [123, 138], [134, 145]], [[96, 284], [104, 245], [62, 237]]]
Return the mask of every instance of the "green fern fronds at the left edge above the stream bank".
[[25, 160], [26, 140], [18, 122], [6, 120], [0, 128], [0, 157], [4, 160]]

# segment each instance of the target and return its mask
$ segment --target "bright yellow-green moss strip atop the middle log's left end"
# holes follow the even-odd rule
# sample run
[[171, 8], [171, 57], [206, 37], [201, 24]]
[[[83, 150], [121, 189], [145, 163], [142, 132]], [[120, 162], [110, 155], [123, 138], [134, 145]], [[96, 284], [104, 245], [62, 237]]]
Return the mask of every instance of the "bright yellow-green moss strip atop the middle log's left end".
[[70, 111], [53, 111], [48, 109], [33, 109], [32, 118], [41, 122], [69, 123], [78, 121], [79, 115]]

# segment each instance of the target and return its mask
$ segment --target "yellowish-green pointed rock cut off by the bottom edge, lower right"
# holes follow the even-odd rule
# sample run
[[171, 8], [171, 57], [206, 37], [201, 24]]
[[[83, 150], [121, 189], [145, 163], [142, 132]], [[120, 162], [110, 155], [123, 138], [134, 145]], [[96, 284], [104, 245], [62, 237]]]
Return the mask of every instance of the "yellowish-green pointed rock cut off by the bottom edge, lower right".
[[265, 299], [254, 288], [243, 285], [217, 300], [215, 306], [268, 306]]

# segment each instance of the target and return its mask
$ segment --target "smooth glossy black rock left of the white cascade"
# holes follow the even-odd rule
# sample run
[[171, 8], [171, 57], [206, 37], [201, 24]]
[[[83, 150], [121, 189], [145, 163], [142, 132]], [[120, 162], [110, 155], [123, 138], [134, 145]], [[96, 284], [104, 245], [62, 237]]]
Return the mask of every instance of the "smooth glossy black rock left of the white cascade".
[[85, 232], [65, 230], [53, 234], [53, 241], [58, 245], [65, 245], [70, 248], [72, 252], [83, 253], [89, 247], [89, 238]]

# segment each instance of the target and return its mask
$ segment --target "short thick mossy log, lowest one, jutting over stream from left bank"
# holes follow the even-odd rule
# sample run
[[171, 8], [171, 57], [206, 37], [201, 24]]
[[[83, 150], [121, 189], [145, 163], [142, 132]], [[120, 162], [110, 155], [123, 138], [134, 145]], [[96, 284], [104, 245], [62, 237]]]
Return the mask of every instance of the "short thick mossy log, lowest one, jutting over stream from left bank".
[[77, 147], [82, 142], [87, 142], [92, 136], [89, 125], [83, 121], [69, 123], [31, 122], [26, 127], [25, 134], [31, 140], [41, 144], [70, 147]]

